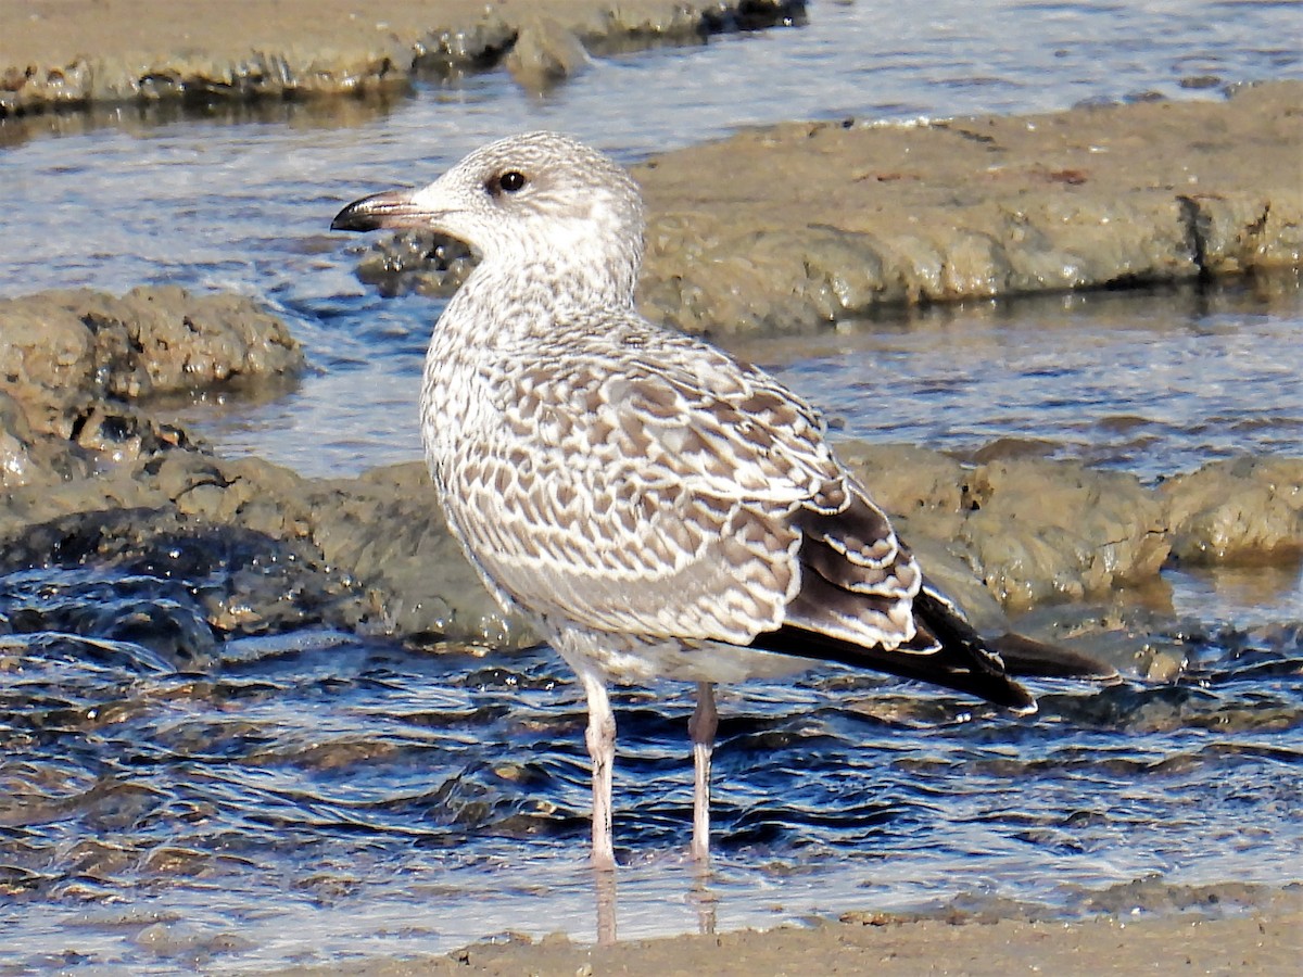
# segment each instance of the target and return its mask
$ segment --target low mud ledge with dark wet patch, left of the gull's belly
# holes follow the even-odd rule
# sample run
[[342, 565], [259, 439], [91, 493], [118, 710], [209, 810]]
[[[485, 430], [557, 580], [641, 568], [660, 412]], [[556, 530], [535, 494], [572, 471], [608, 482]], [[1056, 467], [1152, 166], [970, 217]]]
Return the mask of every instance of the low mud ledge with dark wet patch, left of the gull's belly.
[[94, 568], [182, 581], [224, 636], [328, 625], [524, 646], [448, 534], [420, 464], [314, 481], [179, 448], [0, 508], [0, 574]]

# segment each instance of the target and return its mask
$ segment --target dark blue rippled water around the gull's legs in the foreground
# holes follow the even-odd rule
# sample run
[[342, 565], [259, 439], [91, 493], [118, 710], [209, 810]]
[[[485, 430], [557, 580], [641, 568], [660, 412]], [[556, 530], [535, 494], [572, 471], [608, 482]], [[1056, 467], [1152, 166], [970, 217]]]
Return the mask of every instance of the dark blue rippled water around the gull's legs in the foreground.
[[[38, 614], [26, 582], [0, 610]], [[1138, 879], [1296, 879], [1303, 630], [1160, 641], [1192, 659], [1179, 685], [1059, 689], [1036, 720], [840, 671], [726, 690], [704, 887], [681, 857], [691, 703], [620, 693], [623, 934], [693, 930], [702, 908], [722, 926], [955, 899], [1075, 914]], [[17, 964], [258, 969], [592, 935], [582, 696], [552, 655], [315, 634], [177, 672], [150, 644], [0, 644]]]

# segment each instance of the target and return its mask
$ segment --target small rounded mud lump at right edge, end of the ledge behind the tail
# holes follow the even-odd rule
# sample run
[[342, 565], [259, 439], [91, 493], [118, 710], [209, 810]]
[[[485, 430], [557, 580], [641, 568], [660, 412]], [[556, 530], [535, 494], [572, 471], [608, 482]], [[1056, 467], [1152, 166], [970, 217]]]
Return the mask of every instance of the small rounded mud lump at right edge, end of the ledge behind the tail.
[[1165, 481], [1173, 555], [1261, 563], [1303, 551], [1303, 459], [1234, 459]]

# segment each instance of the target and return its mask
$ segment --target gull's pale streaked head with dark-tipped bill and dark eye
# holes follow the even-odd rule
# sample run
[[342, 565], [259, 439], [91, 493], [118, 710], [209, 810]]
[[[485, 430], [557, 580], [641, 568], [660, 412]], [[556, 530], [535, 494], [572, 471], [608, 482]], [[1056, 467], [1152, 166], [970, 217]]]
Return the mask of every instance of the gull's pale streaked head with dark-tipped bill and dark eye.
[[429, 186], [365, 197], [331, 223], [334, 231], [380, 228], [455, 237], [500, 270], [597, 276], [588, 284], [625, 301], [642, 261], [637, 185], [610, 156], [558, 133], [499, 139]]

